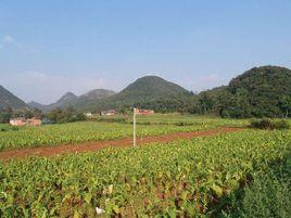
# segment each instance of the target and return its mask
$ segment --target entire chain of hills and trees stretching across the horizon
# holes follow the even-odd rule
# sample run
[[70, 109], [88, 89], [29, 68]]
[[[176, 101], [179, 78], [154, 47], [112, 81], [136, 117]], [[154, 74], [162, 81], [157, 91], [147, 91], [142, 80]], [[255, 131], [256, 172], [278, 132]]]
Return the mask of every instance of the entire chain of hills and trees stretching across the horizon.
[[[193, 94], [182, 87], [157, 76], [146, 76], [128, 85], [121, 92], [96, 89], [77, 97], [67, 92], [50, 105], [30, 102], [30, 107], [48, 112], [72, 105], [78, 112], [130, 107], [156, 112], [190, 112], [215, 114], [222, 117], [291, 117], [291, 70], [280, 66], [253, 67], [230, 80], [228, 86]], [[27, 105], [0, 87], [0, 107]]]

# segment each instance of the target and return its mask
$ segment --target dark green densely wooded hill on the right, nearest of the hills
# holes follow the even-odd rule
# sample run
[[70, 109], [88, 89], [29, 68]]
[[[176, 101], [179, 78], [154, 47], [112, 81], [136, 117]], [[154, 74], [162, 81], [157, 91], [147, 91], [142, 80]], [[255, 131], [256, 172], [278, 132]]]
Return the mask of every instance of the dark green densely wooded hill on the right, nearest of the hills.
[[199, 94], [204, 112], [229, 117], [282, 117], [291, 108], [291, 70], [253, 67], [227, 87]]

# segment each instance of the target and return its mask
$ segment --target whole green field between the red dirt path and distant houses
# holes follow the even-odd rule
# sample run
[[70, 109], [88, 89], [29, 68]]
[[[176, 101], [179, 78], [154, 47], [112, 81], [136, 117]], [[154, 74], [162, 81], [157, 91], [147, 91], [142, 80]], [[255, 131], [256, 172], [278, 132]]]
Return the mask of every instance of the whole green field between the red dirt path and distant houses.
[[[110, 121], [81, 121], [40, 127], [11, 128], [3, 126], [4, 131], [0, 131], [0, 151], [127, 138], [132, 136], [130, 121], [130, 119], [126, 119], [125, 123], [119, 123], [118, 118], [113, 118]], [[137, 123], [137, 136], [146, 137], [212, 129], [222, 126], [243, 126], [245, 120], [236, 121], [169, 114], [138, 116]]]

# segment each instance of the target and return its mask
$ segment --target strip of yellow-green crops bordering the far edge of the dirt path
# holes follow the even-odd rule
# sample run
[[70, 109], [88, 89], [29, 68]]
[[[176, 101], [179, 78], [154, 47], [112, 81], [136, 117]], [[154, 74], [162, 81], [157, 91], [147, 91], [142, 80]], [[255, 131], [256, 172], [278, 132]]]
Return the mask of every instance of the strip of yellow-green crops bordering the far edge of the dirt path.
[[[164, 134], [179, 131], [194, 131], [217, 126], [232, 125], [223, 121], [197, 120], [192, 125], [138, 125], [137, 136]], [[22, 127], [16, 131], [0, 131], [0, 151], [17, 148], [53, 146], [90, 141], [126, 138], [132, 134], [132, 125], [118, 123], [81, 121], [41, 127]]]

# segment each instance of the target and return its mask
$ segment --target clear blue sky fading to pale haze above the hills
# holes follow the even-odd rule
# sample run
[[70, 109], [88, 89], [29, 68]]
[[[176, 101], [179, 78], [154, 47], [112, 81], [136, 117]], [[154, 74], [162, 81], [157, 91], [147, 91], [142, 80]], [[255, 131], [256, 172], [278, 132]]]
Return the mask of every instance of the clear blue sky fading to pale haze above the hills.
[[0, 0], [0, 85], [45, 104], [147, 75], [227, 85], [291, 68], [290, 12], [290, 0]]

